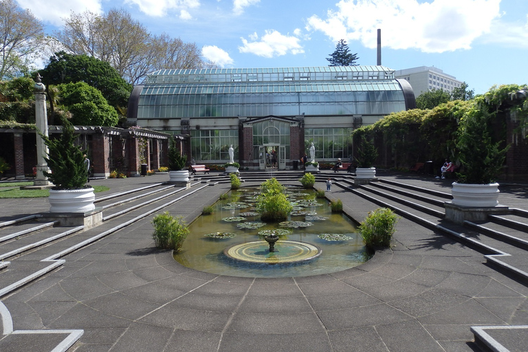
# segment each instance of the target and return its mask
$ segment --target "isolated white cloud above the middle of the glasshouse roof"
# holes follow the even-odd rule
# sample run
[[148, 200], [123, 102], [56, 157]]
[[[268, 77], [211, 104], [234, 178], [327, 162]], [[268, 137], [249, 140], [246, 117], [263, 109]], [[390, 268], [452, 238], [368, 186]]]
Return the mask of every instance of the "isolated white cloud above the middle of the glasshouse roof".
[[302, 54], [305, 52], [296, 36], [285, 36], [276, 30], [266, 30], [260, 41], [255, 34], [250, 36], [250, 40], [241, 38], [243, 46], [239, 47], [239, 52], [255, 54], [265, 58], [282, 56], [288, 53]]

